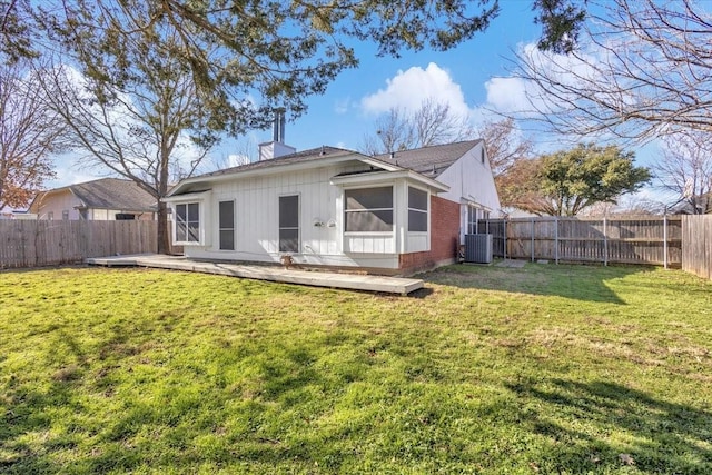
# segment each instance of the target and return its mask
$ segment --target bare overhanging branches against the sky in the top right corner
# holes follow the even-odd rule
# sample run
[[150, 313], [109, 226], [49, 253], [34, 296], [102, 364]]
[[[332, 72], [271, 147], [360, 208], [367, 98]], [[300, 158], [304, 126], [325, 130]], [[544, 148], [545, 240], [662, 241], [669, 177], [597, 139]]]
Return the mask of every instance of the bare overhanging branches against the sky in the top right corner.
[[[592, 6], [593, 7], [593, 6]], [[570, 55], [527, 48], [515, 76], [548, 130], [649, 140], [712, 129], [712, 17], [704, 2], [612, 0], [592, 14]]]

